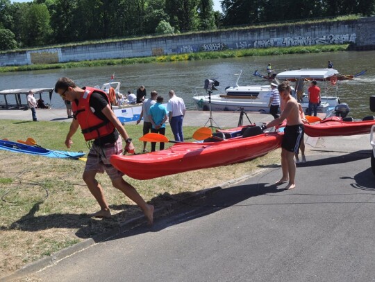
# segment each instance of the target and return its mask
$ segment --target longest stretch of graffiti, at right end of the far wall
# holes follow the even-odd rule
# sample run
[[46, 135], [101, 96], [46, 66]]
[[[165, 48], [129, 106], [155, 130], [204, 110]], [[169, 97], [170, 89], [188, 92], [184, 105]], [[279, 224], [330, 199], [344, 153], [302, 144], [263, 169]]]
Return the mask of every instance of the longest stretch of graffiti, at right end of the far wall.
[[289, 47], [289, 46], [312, 46], [318, 44], [344, 44], [356, 42], [356, 34], [340, 34], [340, 35], [323, 35], [320, 37], [311, 36], [295, 36], [256, 40], [253, 43], [254, 48], [267, 48], [272, 46]]

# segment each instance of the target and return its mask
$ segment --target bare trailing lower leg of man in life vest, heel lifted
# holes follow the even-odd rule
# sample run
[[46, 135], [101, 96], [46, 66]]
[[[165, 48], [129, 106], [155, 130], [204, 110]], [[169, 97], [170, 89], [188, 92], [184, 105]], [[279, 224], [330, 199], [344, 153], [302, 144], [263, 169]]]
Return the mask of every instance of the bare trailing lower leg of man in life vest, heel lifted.
[[128, 182], [126, 182], [122, 177], [113, 179], [112, 184], [115, 186], [115, 188], [119, 189], [119, 191], [122, 191], [122, 193], [128, 196], [129, 199], [135, 202], [135, 204], [138, 204], [138, 206], [142, 209], [144, 216], [146, 216], [147, 221], [151, 225], [153, 223], [153, 205], [144, 202], [137, 190], [135, 190], [131, 184], [128, 184]]

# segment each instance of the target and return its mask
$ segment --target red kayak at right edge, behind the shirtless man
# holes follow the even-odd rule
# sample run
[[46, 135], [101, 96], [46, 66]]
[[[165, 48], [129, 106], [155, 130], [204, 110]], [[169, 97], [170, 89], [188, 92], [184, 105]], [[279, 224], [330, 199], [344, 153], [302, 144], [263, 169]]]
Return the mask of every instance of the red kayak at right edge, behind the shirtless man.
[[305, 133], [311, 137], [321, 136], [349, 136], [370, 133], [375, 120], [369, 121], [342, 121], [342, 118], [333, 116], [320, 123], [305, 124]]

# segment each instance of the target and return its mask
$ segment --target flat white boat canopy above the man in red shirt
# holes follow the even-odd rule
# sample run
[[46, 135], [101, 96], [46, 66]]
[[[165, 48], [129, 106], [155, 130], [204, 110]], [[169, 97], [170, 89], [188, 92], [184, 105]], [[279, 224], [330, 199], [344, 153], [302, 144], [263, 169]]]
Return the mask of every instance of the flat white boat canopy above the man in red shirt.
[[331, 76], [338, 74], [335, 69], [296, 69], [294, 71], [283, 71], [276, 75], [277, 79], [288, 80], [288, 79], [299, 79], [299, 78], [315, 78], [324, 80]]

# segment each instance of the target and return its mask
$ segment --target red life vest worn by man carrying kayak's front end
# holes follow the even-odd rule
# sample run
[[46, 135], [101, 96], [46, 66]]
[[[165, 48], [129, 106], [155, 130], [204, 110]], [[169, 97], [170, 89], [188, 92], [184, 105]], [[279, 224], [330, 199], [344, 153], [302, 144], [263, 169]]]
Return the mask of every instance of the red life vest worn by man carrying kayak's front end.
[[78, 100], [78, 105], [72, 103], [74, 117], [78, 120], [78, 123], [81, 126], [85, 141], [107, 136], [115, 130], [115, 126], [110, 121], [103, 121], [95, 116], [90, 109], [90, 97], [94, 91], [103, 95], [108, 104], [110, 103], [106, 92], [92, 87], [85, 87], [85, 93]]

